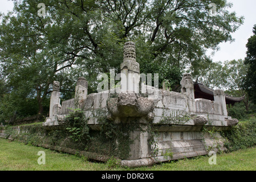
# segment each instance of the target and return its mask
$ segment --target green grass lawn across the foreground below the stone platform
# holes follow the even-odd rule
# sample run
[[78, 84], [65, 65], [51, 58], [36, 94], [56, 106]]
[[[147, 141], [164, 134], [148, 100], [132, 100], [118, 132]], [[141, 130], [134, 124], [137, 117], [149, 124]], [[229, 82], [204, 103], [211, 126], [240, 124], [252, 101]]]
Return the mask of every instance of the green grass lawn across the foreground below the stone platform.
[[[39, 165], [38, 151], [46, 153], [46, 164]], [[155, 164], [150, 167], [109, 167], [106, 163], [89, 162], [78, 156], [51, 151], [42, 147], [25, 145], [19, 142], [0, 138], [0, 170], [26, 171], [78, 171], [78, 170], [137, 170], [137, 171], [254, 171], [256, 166], [256, 147], [217, 155], [217, 164], [208, 163], [209, 156], [181, 159], [168, 163]]]

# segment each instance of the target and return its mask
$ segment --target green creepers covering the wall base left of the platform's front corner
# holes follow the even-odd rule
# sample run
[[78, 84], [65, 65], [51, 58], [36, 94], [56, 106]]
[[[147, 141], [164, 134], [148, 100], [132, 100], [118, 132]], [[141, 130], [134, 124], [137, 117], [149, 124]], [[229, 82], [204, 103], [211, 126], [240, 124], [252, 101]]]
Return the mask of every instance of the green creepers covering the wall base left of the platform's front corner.
[[[100, 131], [90, 131], [86, 121], [83, 112], [80, 109], [74, 109], [66, 118], [67, 126], [64, 128], [45, 130], [42, 123], [38, 123], [20, 126], [21, 133], [18, 134], [15, 127], [8, 126], [5, 127], [5, 137], [11, 136], [13, 139], [34, 146], [46, 145], [54, 150], [60, 150], [58, 148], [63, 147], [67, 152], [74, 153], [74, 150], [88, 152], [92, 159], [96, 158], [96, 155], [127, 159], [131, 144], [139, 139], [131, 138], [130, 134], [133, 131], [144, 132], [136, 121], [117, 124], [100, 118], [98, 120], [101, 125]], [[109, 161], [109, 163], [112, 162]]]

